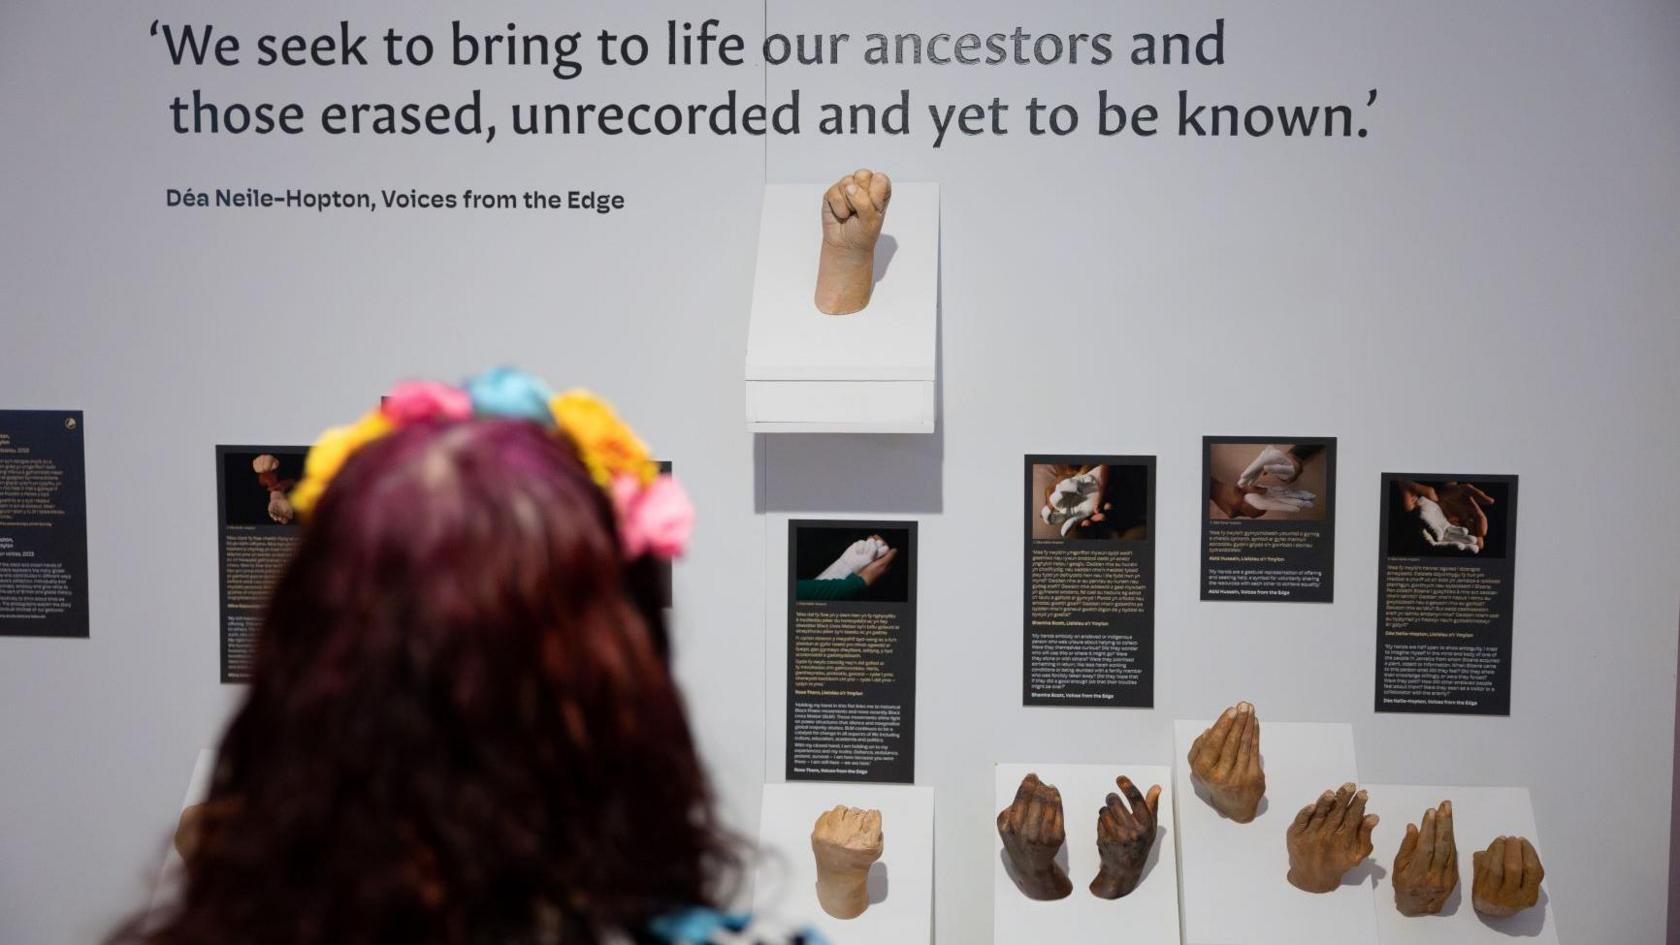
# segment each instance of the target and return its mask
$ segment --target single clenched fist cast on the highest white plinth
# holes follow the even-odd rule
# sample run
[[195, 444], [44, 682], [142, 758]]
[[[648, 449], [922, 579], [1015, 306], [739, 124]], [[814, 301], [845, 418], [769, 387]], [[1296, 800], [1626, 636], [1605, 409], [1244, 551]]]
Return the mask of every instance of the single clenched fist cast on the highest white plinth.
[[816, 266], [816, 309], [852, 314], [875, 289], [875, 240], [892, 202], [892, 180], [857, 170], [823, 193], [823, 252]]

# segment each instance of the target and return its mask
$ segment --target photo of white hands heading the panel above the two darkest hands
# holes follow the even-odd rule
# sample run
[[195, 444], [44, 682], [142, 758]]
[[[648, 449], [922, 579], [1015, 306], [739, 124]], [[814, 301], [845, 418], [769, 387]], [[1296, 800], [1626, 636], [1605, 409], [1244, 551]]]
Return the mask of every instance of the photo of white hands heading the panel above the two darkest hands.
[[1149, 536], [1149, 471], [1144, 466], [1033, 466], [1038, 503], [1033, 538]]

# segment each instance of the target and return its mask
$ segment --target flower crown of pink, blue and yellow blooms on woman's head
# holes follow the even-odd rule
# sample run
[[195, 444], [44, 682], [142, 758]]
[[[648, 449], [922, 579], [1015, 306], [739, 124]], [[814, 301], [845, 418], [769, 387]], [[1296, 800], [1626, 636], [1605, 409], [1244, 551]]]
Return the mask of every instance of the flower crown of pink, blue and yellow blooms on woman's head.
[[588, 390], [551, 393], [541, 380], [512, 368], [480, 373], [460, 387], [430, 380], [398, 383], [376, 409], [354, 424], [326, 430], [309, 447], [292, 506], [307, 518], [344, 461], [391, 430], [472, 417], [533, 420], [570, 439], [590, 478], [613, 501], [625, 558], [675, 558], [687, 548], [694, 530], [687, 493], [659, 471], [647, 446], [612, 405]]

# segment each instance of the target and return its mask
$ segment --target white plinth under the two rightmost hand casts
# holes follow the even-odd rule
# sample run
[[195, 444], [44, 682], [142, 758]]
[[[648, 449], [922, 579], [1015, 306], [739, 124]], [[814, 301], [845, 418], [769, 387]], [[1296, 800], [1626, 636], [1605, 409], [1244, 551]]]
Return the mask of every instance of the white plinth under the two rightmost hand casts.
[[[1534, 826], [1534, 802], [1525, 787], [1446, 787], [1373, 784], [1371, 809], [1383, 822], [1371, 834], [1376, 858], [1384, 873], [1376, 881], [1376, 927], [1383, 945], [1557, 945], [1557, 923], [1552, 920], [1552, 903], [1541, 883], [1541, 901], [1510, 918], [1482, 918], [1470, 905], [1470, 883], [1475, 869], [1475, 851], [1487, 849], [1494, 837], [1529, 837], [1546, 864], [1546, 847], [1541, 846]], [[1406, 836], [1406, 824], [1423, 826], [1423, 810], [1441, 800], [1453, 802], [1453, 837], [1458, 844], [1458, 890], [1446, 900], [1441, 915], [1403, 916], [1394, 908], [1394, 853]]]

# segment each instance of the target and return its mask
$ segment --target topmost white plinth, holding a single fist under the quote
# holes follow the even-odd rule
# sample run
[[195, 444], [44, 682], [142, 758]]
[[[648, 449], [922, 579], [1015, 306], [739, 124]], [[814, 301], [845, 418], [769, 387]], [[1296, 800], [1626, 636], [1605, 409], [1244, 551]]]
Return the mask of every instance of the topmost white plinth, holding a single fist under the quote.
[[875, 289], [869, 308], [855, 314], [823, 314], [813, 299], [827, 188], [764, 188], [746, 348], [748, 427], [931, 434], [939, 185], [894, 185], [875, 244]]

